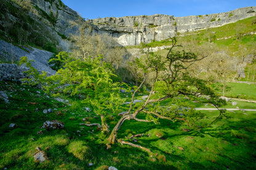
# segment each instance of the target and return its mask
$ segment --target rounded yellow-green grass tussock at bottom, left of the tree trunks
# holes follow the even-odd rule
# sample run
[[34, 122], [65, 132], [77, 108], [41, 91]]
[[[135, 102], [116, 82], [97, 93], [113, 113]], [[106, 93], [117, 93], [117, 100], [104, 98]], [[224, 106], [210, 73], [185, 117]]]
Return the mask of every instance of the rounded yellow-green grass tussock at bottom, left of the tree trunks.
[[91, 156], [90, 148], [84, 141], [73, 141], [68, 145], [68, 152], [73, 153], [79, 160], [87, 160]]

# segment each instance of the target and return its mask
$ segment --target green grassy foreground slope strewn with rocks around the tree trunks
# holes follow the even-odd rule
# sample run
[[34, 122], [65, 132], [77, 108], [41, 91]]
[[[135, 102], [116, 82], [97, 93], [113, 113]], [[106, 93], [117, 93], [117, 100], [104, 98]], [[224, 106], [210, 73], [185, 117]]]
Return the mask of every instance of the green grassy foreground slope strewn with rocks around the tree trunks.
[[[74, 109], [68, 104], [57, 102], [39, 94], [37, 88], [21, 86], [16, 83], [0, 82], [6, 91], [10, 104], [1, 100], [0, 114], [0, 169], [95, 169], [102, 165], [118, 169], [254, 169], [256, 167], [256, 115], [254, 112], [230, 114], [211, 128], [184, 132], [187, 128], [179, 123], [161, 120], [161, 125], [129, 121], [124, 123], [119, 136], [125, 139], [132, 134], [146, 133], [149, 136], [138, 138], [140, 144], [161, 156], [151, 157], [142, 150], [127, 145], [116, 144], [106, 150], [105, 137], [96, 127], [82, 128], [82, 118], [91, 123], [100, 123], [93, 112], [80, 107]], [[29, 89], [29, 91], [28, 91]], [[178, 100], [178, 99], [177, 99]], [[28, 102], [36, 102], [30, 104]], [[74, 101], [70, 99], [70, 104]], [[38, 108], [38, 112], [36, 112]], [[43, 114], [43, 109], [56, 108], [63, 115]], [[203, 122], [210, 122], [217, 112], [205, 111]], [[110, 129], [118, 122], [107, 119]], [[142, 115], [143, 117], [143, 115]], [[41, 129], [46, 120], [58, 119], [65, 128], [47, 131]], [[15, 129], [10, 123], [17, 123]], [[42, 130], [44, 134], [37, 134]], [[81, 133], [78, 133], [78, 130]], [[160, 133], [162, 137], [156, 136]], [[50, 161], [33, 163], [36, 147], [46, 151]], [[180, 147], [180, 149], [179, 149]], [[184, 150], [181, 150], [183, 148]], [[82, 150], [81, 150], [82, 149]], [[94, 165], [89, 167], [89, 162]]]

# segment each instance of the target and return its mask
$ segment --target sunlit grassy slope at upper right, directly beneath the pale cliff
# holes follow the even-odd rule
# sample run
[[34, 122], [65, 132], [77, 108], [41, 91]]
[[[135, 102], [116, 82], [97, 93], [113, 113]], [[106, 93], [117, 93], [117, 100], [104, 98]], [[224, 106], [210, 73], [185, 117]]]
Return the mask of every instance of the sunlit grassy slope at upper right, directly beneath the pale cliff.
[[[199, 53], [202, 56], [210, 55], [217, 51], [223, 51], [230, 56], [235, 56], [241, 60], [249, 55], [255, 55], [256, 45], [256, 17], [250, 17], [236, 23], [220, 26], [217, 28], [202, 29], [199, 31], [179, 34], [177, 36], [178, 44], [182, 44], [185, 50]], [[153, 41], [150, 47], [159, 47], [163, 45], [172, 45], [172, 42]], [[137, 48], [137, 47], [129, 47]], [[166, 55], [167, 50], [159, 50], [161, 55]], [[246, 78], [243, 81], [255, 82], [256, 63], [247, 64], [245, 69]]]

